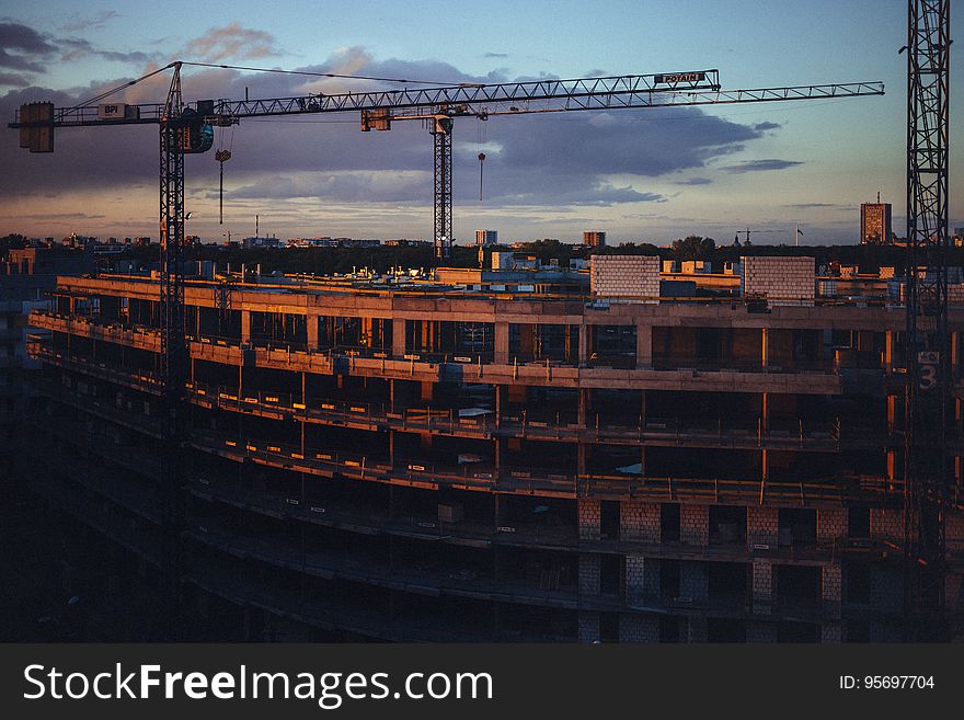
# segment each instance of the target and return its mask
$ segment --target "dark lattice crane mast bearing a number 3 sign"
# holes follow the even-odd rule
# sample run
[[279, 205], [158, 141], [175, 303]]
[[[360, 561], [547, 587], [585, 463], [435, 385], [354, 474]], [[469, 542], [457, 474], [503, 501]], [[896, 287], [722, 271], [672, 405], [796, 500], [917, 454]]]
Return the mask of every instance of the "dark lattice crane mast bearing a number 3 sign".
[[948, 456], [950, 32], [950, 0], [909, 0], [904, 590], [916, 639], [933, 633], [923, 626], [944, 609], [944, 504], [954, 482]]

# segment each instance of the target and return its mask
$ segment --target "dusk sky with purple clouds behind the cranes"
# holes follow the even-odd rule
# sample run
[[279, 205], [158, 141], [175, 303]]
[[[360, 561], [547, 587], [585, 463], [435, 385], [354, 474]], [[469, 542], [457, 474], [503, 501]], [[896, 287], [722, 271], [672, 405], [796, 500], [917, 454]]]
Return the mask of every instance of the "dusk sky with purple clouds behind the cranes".
[[[0, 116], [70, 106], [172, 60], [438, 82], [647, 75], [719, 68], [726, 89], [882, 81], [883, 96], [456, 121], [460, 242], [610, 244], [701, 235], [728, 244], [854, 243], [860, 204], [905, 227], [907, 3], [903, 0], [264, 0], [78, 3], [0, 0]], [[955, 12], [956, 11], [956, 12]], [[952, 8], [952, 37], [964, 37]], [[952, 55], [951, 227], [964, 226], [964, 46]], [[161, 102], [170, 75], [112, 96]], [[185, 68], [185, 101], [398, 88]], [[413, 85], [409, 85], [413, 87]], [[157, 126], [64, 128], [51, 155], [0, 133], [0, 235], [158, 237]], [[242, 119], [186, 159], [190, 235], [222, 241], [433, 233], [432, 136], [417, 122], [360, 133], [356, 115]], [[479, 197], [477, 156], [486, 155]]]

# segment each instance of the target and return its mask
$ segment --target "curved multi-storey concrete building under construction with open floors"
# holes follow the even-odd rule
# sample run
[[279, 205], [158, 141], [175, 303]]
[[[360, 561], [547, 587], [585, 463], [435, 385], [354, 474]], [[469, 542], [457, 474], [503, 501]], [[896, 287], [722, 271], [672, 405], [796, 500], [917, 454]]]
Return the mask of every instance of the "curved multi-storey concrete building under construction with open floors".
[[[903, 283], [659, 270], [188, 279], [173, 489], [158, 279], [61, 277], [30, 482], [251, 639], [913, 637]], [[941, 521], [953, 638], [960, 494]]]

